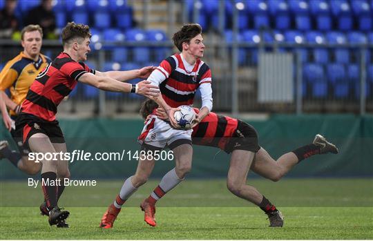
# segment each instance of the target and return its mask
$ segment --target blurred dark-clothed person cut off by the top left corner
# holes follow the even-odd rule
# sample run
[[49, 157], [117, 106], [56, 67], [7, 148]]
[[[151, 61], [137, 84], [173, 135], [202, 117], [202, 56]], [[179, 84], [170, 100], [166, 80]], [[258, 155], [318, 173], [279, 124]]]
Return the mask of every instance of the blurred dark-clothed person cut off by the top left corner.
[[19, 28], [18, 19], [15, 16], [17, 0], [6, 0], [4, 8], [0, 11], [0, 39], [11, 39]]

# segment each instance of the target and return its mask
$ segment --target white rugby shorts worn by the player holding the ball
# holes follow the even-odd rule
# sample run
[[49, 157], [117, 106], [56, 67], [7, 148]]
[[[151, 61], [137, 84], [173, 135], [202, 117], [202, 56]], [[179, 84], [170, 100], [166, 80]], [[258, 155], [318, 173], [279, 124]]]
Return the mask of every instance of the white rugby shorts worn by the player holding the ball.
[[[143, 145], [154, 146], [156, 148], [164, 148], [165, 146], [173, 146], [171, 143], [178, 140], [186, 140], [187, 142], [175, 142], [175, 143], [191, 143], [191, 134], [193, 129], [185, 131], [175, 129], [162, 119], [158, 119], [156, 115], [152, 115], [151, 119], [146, 122], [142, 129], [141, 135], [137, 138], [137, 141]], [[175, 148], [176, 146], [173, 146]]]

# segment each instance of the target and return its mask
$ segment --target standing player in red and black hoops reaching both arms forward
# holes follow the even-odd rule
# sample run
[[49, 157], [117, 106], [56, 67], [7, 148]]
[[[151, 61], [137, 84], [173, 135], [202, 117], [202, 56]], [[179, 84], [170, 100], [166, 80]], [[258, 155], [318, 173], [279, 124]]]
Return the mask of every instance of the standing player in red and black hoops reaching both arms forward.
[[[57, 106], [73, 90], [77, 81], [102, 90], [137, 93], [146, 97], [156, 97], [159, 93], [158, 87], [151, 86], [150, 81], [141, 81], [136, 85], [122, 82], [149, 77], [153, 67], [104, 73], [88, 68], [83, 61], [90, 52], [90, 36], [88, 26], [68, 23], [62, 30], [64, 52], [41, 71], [30, 86], [22, 112], [16, 120], [16, 132], [33, 153], [66, 153], [64, 135], [55, 115]], [[41, 213], [48, 215], [50, 225], [68, 227], [65, 220], [69, 212], [57, 205], [65, 188], [61, 179], [70, 177], [68, 160], [41, 160], [41, 163], [41, 187], [45, 198], [40, 206]], [[60, 180], [59, 185], [48, 182], [57, 179]]]

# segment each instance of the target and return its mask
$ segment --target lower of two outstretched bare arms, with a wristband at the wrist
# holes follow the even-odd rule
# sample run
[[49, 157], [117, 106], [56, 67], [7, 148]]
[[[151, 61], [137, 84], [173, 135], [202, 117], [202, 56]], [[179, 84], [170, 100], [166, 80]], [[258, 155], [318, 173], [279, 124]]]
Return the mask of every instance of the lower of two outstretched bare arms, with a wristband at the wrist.
[[79, 81], [84, 84], [89, 84], [95, 86], [101, 90], [108, 90], [113, 92], [122, 92], [122, 93], [137, 93], [138, 95], [144, 95], [145, 97], [157, 97], [160, 93], [160, 90], [157, 86], [152, 86], [150, 81], [140, 81], [135, 85], [128, 83], [123, 83], [112, 79], [111, 77], [93, 75], [92, 73], [84, 73], [79, 77]]

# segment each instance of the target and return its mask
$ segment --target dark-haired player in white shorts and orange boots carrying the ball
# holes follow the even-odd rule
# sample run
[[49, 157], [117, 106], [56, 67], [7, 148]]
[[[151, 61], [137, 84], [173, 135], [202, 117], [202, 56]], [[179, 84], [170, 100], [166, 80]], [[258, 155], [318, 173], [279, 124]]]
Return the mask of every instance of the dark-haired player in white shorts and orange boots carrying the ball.
[[[201, 34], [202, 28], [197, 23], [182, 26], [173, 35], [173, 43], [181, 53], [164, 59], [148, 78], [153, 85], [160, 87], [162, 96], [153, 99], [166, 110], [170, 121], [152, 117], [144, 126], [138, 140], [146, 153], [160, 151], [168, 146], [175, 157], [175, 168], [164, 175], [160, 184], [140, 205], [144, 211], [145, 222], [151, 226], [156, 225], [155, 202], [184, 180], [185, 175], [191, 171], [192, 131], [179, 130], [173, 114], [178, 110], [178, 106], [193, 104], [198, 89], [202, 97], [202, 108], [193, 120], [192, 128], [206, 117], [212, 108], [211, 70], [200, 60], [204, 54]], [[140, 157], [135, 175], [128, 177], [119, 195], [104, 213], [100, 223], [102, 228], [110, 229], [113, 226], [122, 205], [137, 188], [146, 183], [154, 164], [154, 158], [149, 158], [149, 155]]]

